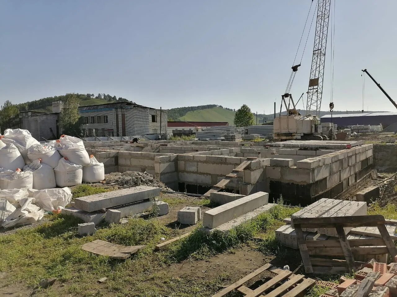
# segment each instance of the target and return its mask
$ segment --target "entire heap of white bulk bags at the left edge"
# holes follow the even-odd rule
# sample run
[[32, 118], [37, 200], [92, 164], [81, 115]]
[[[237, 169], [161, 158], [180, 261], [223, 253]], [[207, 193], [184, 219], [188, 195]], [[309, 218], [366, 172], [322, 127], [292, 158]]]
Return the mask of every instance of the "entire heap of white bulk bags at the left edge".
[[104, 178], [104, 164], [88, 155], [81, 139], [62, 135], [40, 144], [27, 130], [6, 129], [0, 135], [0, 226], [40, 220], [44, 211], [69, 204], [68, 187]]

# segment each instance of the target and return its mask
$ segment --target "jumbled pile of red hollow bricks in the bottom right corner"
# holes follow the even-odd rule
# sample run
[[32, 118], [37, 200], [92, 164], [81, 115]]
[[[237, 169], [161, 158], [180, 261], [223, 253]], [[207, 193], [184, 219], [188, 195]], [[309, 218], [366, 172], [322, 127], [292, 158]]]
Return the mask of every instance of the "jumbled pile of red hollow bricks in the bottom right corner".
[[320, 297], [396, 297], [397, 263], [367, 262], [355, 272], [354, 279], [341, 277], [340, 284], [317, 282], [318, 286], [329, 287]]

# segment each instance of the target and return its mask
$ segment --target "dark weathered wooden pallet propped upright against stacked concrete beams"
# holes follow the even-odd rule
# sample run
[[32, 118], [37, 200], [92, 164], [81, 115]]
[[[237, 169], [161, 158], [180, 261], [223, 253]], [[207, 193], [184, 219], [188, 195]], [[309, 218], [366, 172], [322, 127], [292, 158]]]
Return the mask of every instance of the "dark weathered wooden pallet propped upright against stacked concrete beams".
[[[353, 253], [357, 255], [389, 253], [392, 259], [397, 255], [397, 249], [387, 232], [385, 218], [382, 215], [294, 218], [293, 224], [306, 273], [349, 273], [360, 265], [355, 261]], [[364, 226], [377, 227], [382, 238], [349, 240], [346, 238], [344, 227]], [[306, 241], [302, 228], [335, 228], [339, 239]], [[344, 256], [345, 260], [341, 265], [340, 260], [310, 258], [310, 255]]]

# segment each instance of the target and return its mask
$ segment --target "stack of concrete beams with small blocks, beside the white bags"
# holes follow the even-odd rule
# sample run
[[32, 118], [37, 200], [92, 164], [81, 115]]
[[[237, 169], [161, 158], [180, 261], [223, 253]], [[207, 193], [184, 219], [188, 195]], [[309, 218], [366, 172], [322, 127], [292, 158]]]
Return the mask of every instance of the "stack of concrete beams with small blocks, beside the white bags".
[[100, 223], [105, 215], [106, 221], [118, 223], [123, 217], [141, 213], [152, 208], [154, 197], [159, 196], [161, 188], [139, 186], [107, 193], [76, 198], [74, 206], [62, 209], [62, 213], [73, 215], [85, 223]]

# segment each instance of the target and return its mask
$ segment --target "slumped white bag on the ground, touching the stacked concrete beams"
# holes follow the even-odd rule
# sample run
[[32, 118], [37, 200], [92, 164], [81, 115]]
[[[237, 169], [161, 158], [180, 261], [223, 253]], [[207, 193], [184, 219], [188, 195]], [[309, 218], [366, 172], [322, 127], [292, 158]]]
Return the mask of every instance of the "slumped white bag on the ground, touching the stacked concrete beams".
[[72, 200], [72, 192], [68, 187], [44, 189], [33, 193], [35, 204], [46, 211], [65, 208]]

